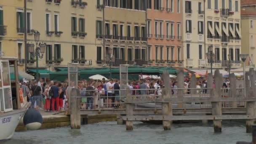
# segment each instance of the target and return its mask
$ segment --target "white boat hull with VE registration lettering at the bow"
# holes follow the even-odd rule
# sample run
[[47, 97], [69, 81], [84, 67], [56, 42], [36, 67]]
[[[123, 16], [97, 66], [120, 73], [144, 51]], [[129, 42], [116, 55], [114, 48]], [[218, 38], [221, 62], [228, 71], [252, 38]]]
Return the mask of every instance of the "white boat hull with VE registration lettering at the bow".
[[0, 114], [0, 141], [12, 138], [19, 121], [26, 111], [27, 109], [21, 109]]

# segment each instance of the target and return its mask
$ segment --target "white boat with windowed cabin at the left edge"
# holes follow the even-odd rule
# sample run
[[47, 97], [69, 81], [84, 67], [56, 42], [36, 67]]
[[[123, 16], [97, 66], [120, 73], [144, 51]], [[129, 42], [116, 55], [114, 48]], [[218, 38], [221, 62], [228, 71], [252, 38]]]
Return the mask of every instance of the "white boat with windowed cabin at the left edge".
[[[0, 57], [0, 141], [11, 139], [19, 121], [27, 112], [29, 103], [19, 101], [19, 80], [16, 58]], [[14, 66], [15, 80], [11, 82], [9, 65]], [[12, 97], [16, 90], [16, 100]], [[14, 106], [14, 107], [13, 107]]]

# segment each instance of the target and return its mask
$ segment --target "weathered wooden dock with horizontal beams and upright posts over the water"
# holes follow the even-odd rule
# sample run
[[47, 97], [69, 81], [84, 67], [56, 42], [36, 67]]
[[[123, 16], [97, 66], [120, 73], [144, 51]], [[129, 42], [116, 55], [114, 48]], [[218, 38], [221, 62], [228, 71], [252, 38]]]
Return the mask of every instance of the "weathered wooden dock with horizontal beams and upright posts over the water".
[[[182, 78], [183, 77], [183, 78]], [[208, 89], [207, 96], [185, 96], [184, 90], [179, 87], [178, 96], [172, 96], [171, 86], [169, 81], [168, 72], [164, 72], [161, 76], [165, 88], [162, 89], [162, 96], [155, 99], [139, 99], [131, 95], [131, 90], [126, 90], [125, 109], [93, 109], [84, 110], [80, 109], [80, 92], [76, 89], [72, 89], [70, 97], [70, 120], [72, 128], [80, 128], [81, 115], [117, 115], [117, 120], [126, 121], [126, 129], [133, 130], [133, 121], [149, 121], [149, 120], [162, 120], [163, 129], [171, 130], [171, 124], [173, 120], [212, 120], [215, 132], [221, 132], [222, 120], [246, 120], [246, 132], [252, 131], [252, 125], [256, 120], [256, 73], [253, 69], [245, 74], [246, 96], [237, 97], [236, 79], [235, 75], [231, 74], [229, 79], [231, 87], [229, 89], [228, 96], [224, 96], [224, 89], [222, 89], [223, 77], [219, 73], [219, 70], [215, 71], [214, 83], [215, 88], [212, 88], [213, 78], [211, 74], [208, 74]], [[179, 69], [178, 83], [184, 83], [183, 68]], [[191, 93], [196, 95], [195, 88], [196, 78], [192, 75], [191, 78]], [[181, 85], [180, 85], [181, 86]], [[211, 86], [211, 87], [210, 87]], [[148, 104], [158, 103], [161, 104], [160, 108], [155, 109], [136, 109], [136, 104]], [[184, 104], [205, 104], [208, 108], [185, 108]], [[228, 107], [225, 107], [228, 103]], [[243, 103], [242, 107], [238, 104]], [[173, 109], [172, 105], [178, 104], [178, 108]], [[121, 116], [123, 115], [123, 116]], [[119, 122], [121, 123], [121, 122]]]

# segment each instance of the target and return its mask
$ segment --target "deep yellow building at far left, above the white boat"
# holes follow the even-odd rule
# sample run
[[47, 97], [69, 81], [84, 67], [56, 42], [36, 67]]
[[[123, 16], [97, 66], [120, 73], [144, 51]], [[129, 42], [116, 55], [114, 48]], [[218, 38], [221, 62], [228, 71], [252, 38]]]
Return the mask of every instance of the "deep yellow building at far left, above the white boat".
[[0, 51], [3, 56], [19, 58], [24, 69], [24, 1], [0, 1]]

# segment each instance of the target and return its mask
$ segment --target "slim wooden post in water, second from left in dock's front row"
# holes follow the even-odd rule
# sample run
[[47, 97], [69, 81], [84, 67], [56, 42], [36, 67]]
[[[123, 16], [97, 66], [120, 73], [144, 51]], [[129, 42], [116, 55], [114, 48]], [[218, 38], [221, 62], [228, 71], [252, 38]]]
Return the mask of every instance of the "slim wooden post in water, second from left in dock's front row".
[[[125, 111], [125, 113], [126, 113], [126, 116], [129, 117], [129, 116], [133, 116], [133, 106], [130, 103], [131, 100], [132, 100], [130, 88], [126, 89], [126, 93], [127, 93], [126, 101], [128, 103], [126, 103], [126, 111]], [[133, 121], [126, 120], [126, 130], [133, 130]]]

